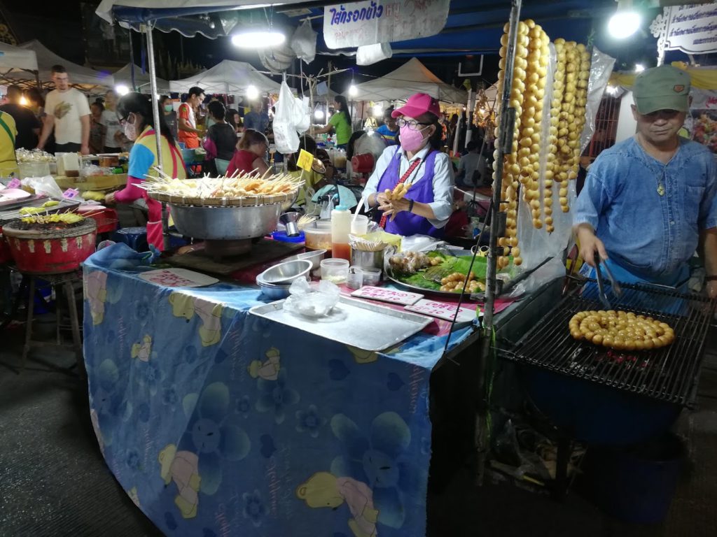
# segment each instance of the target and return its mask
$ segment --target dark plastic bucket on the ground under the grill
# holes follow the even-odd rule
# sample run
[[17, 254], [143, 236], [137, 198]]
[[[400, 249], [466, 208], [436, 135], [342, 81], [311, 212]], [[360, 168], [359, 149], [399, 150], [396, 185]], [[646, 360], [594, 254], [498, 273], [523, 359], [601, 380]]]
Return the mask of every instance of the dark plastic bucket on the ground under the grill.
[[589, 453], [586, 478], [603, 511], [622, 521], [659, 523], [670, 509], [685, 448], [666, 433], [630, 448], [601, 448]]

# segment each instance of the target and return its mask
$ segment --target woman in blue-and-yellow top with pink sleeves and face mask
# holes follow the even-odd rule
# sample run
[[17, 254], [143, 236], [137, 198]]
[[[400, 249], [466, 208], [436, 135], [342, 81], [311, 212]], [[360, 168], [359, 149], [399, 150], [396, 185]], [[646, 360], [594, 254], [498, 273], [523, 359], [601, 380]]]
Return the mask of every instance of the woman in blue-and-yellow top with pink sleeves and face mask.
[[[158, 174], [153, 166], [158, 165], [156, 125], [152, 115], [152, 105], [145, 95], [128, 93], [117, 105], [117, 117], [123, 127], [125, 136], [133, 140], [130, 150], [127, 185], [123, 190], [109, 193], [105, 203], [132, 203], [143, 198], [147, 203], [149, 217], [147, 221], [147, 242], [158, 250], [163, 248], [162, 236], [162, 205], [148, 197], [146, 190], [138, 188], [147, 175], [156, 177]], [[164, 173], [173, 178], [185, 179], [186, 170], [181, 152], [174, 142], [162, 116], [159, 117], [161, 133], [162, 163]]]

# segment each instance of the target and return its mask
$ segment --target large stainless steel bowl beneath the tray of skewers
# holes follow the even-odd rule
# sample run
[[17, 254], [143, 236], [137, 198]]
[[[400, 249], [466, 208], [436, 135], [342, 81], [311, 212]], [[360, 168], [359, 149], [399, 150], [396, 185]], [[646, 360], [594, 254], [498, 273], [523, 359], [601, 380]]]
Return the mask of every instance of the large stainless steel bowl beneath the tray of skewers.
[[282, 213], [280, 203], [250, 207], [169, 206], [179, 233], [221, 241], [263, 237], [276, 229]]

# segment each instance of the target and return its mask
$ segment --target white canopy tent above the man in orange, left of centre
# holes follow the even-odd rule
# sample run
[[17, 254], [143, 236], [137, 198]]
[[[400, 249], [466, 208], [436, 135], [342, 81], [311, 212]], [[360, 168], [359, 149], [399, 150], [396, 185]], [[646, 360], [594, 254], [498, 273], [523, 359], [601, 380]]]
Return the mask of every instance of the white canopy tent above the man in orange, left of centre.
[[254, 86], [261, 93], [278, 93], [281, 84], [261, 74], [251, 64], [224, 59], [194, 77], [169, 82], [169, 89], [173, 92], [185, 93], [192, 86], [199, 86], [206, 93], [245, 95], [249, 86]]

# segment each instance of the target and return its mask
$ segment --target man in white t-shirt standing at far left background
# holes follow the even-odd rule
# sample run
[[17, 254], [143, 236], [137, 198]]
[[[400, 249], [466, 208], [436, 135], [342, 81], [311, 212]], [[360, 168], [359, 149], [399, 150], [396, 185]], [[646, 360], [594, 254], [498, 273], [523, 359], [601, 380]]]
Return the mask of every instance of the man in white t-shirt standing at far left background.
[[45, 98], [47, 115], [42, 125], [38, 149], [44, 149], [47, 138], [54, 130], [57, 153], [82, 152], [90, 154], [90, 104], [82, 92], [70, 87], [70, 77], [62, 65], [52, 66], [55, 89]]

